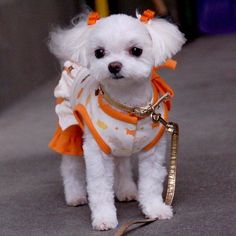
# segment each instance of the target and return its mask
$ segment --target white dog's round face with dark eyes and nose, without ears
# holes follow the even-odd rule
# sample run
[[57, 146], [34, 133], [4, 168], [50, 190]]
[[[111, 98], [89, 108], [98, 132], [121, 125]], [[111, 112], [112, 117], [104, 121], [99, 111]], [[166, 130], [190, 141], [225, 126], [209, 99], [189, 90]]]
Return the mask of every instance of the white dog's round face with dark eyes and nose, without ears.
[[88, 67], [98, 81], [140, 81], [154, 65], [152, 39], [145, 25], [126, 15], [99, 20], [87, 43]]

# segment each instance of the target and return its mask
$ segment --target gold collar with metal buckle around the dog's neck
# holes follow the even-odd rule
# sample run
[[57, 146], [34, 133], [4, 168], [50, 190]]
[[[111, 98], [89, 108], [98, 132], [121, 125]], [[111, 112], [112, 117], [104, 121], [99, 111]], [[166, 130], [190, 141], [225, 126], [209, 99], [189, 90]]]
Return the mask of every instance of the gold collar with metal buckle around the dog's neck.
[[[95, 90], [95, 95], [101, 95], [103, 96], [103, 98], [112, 106], [124, 111], [124, 112], [128, 112], [130, 114], [133, 114], [139, 118], [144, 118], [147, 117], [149, 115], [151, 115], [156, 107], [159, 107], [159, 105], [166, 101], [169, 100], [171, 98], [171, 95], [169, 92], [165, 93], [163, 96], [161, 96], [159, 99], [155, 99], [154, 97], [152, 98], [152, 100], [148, 103], [148, 105], [146, 106], [140, 106], [140, 107], [131, 107], [131, 106], [127, 106], [124, 105], [122, 103], [117, 102], [116, 100], [114, 100], [113, 98], [111, 98], [111, 96], [106, 92], [106, 90], [102, 87], [102, 85], [100, 84], [98, 86], [98, 89]], [[155, 101], [156, 100], [156, 101]]]

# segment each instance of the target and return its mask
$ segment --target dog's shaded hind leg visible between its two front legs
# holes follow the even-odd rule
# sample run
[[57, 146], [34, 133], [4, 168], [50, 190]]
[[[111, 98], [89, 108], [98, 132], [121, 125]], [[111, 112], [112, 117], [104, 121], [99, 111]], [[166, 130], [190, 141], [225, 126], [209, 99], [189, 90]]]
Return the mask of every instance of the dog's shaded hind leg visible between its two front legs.
[[138, 190], [133, 180], [131, 159], [115, 158], [115, 194], [119, 201], [137, 200]]

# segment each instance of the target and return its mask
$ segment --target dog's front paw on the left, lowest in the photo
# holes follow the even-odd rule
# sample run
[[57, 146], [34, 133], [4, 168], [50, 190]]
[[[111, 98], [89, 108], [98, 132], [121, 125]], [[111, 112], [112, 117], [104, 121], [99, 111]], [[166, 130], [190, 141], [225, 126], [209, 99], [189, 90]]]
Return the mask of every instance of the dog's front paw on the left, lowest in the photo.
[[102, 207], [96, 211], [92, 219], [92, 226], [95, 230], [114, 229], [118, 225], [116, 211]]

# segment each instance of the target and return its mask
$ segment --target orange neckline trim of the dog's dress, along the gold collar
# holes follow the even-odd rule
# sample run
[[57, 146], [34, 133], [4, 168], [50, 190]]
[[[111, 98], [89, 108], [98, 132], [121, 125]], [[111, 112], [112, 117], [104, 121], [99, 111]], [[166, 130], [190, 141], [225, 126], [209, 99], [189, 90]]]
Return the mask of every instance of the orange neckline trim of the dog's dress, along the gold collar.
[[[153, 86], [153, 100], [154, 103], [158, 100], [158, 87], [155, 85], [155, 83], [152, 83]], [[104, 103], [103, 101], [103, 96], [101, 94], [98, 95], [98, 104], [100, 106], [100, 108], [109, 116], [117, 119], [117, 120], [121, 120], [121, 121], [125, 121], [128, 122], [130, 124], [137, 124], [138, 120], [142, 119], [140, 117], [136, 117], [133, 114], [127, 114], [127, 113], [123, 113], [121, 111], [115, 110], [112, 106], [110, 106], [108, 103]]]

